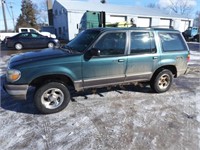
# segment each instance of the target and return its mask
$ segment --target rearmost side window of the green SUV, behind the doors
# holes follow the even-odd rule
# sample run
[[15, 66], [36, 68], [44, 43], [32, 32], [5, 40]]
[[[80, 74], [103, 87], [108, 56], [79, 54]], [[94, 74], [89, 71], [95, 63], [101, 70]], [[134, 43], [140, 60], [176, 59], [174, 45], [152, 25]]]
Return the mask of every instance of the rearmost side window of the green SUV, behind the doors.
[[159, 33], [162, 49], [168, 51], [185, 51], [187, 46], [179, 33]]

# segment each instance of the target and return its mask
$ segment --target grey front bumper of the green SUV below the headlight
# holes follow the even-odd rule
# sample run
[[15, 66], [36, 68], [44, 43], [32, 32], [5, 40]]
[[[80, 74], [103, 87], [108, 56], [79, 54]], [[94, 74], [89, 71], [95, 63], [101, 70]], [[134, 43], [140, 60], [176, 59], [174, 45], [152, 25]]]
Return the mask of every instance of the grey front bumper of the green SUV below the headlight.
[[6, 92], [17, 100], [26, 100], [28, 85], [4, 84]]

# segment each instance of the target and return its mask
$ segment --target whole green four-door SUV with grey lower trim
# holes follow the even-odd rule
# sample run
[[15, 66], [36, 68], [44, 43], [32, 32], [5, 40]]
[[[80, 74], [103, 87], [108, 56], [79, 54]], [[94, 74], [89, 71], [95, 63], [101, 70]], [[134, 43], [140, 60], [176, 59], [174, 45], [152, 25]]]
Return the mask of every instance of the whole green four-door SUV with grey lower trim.
[[42, 113], [63, 110], [71, 88], [81, 91], [149, 81], [157, 93], [187, 72], [189, 49], [182, 34], [160, 28], [95, 28], [81, 32], [61, 48], [22, 53], [11, 58], [4, 87], [34, 102]]

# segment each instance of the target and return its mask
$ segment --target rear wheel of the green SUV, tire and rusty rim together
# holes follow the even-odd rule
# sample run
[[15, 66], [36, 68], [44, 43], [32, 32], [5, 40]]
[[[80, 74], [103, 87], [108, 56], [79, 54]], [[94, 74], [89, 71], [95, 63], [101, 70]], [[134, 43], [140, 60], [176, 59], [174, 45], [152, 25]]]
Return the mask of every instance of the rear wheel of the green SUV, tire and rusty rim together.
[[163, 93], [170, 89], [172, 82], [172, 72], [168, 69], [164, 69], [151, 79], [150, 86], [154, 92]]

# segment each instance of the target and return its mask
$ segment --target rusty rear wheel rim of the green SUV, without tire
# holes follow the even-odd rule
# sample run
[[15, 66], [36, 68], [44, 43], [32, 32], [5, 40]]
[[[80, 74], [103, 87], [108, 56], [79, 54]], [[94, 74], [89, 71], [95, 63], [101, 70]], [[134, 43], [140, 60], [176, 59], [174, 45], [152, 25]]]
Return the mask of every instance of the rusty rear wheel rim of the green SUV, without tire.
[[165, 90], [168, 88], [168, 86], [170, 85], [170, 76], [168, 74], [163, 74], [159, 81], [158, 81], [158, 86], [161, 90]]

